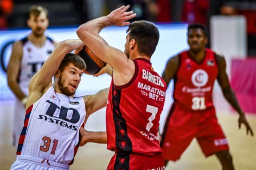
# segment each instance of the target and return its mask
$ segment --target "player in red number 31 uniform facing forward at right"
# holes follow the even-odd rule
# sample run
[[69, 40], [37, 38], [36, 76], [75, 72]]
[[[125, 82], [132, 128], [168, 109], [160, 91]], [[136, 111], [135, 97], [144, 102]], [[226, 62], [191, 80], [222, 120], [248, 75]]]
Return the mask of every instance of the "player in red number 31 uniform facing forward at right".
[[206, 29], [200, 24], [188, 26], [188, 51], [170, 58], [162, 78], [168, 85], [174, 78], [174, 103], [167, 116], [161, 147], [166, 160], [176, 161], [196, 138], [205, 156], [215, 154], [223, 170], [234, 170], [228, 142], [212, 103], [212, 89], [217, 79], [226, 100], [238, 112], [239, 128], [246, 126], [247, 134], [252, 129], [230, 87], [226, 74], [226, 62], [207, 44]]

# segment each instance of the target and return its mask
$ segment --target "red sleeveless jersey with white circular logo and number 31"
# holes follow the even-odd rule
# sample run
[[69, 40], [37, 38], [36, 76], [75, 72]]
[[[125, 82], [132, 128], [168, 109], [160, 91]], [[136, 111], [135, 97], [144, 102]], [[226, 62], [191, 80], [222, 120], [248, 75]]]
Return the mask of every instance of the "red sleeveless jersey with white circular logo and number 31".
[[182, 52], [180, 67], [174, 78], [174, 102], [184, 110], [205, 110], [213, 106], [212, 89], [218, 75], [215, 53], [206, 48], [204, 60], [198, 64], [188, 51]]

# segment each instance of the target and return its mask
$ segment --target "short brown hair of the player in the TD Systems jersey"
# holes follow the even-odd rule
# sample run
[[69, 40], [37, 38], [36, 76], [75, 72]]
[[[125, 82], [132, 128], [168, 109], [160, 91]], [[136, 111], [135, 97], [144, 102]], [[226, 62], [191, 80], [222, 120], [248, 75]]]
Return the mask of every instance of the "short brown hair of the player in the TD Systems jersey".
[[64, 56], [63, 60], [60, 63], [60, 71], [62, 72], [68, 64], [73, 63], [74, 66], [79, 68], [80, 70], [86, 69], [86, 64], [84, 60], [78, 56], [77, 54], [68, 53]]

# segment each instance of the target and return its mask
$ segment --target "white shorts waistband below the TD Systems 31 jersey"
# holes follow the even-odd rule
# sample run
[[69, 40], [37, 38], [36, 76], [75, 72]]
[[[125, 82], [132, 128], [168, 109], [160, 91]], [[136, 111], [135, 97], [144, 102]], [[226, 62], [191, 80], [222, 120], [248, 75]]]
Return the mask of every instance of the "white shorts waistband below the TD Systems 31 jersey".
[[10, 170], [69, 170], [69, 165], [18, 155]]

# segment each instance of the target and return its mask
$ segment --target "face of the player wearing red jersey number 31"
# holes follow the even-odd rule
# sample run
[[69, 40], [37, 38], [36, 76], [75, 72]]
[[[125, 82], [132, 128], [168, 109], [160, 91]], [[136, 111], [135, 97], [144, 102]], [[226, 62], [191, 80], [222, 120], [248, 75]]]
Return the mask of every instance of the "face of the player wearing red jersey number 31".
[[204, 50], [207, 44], [207, 38], [204, 35], [204, 31], [200, 28], [192, 28], [188, 32], [188, 44], [190, 50], [194, 53], [198, 53]]

